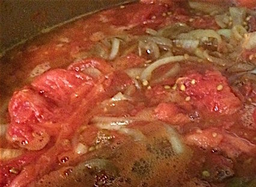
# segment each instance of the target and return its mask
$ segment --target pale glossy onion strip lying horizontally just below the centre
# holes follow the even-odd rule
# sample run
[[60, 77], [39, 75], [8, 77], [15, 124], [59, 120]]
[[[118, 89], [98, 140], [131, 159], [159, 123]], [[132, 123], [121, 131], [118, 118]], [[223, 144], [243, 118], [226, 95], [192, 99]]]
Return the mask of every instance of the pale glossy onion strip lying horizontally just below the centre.
[[122, 126], [134, 122], [132, 117], [107, 117], [95, 116], [91, 119], [91, 123], [96, 124], [100, 129], [119, 130]]

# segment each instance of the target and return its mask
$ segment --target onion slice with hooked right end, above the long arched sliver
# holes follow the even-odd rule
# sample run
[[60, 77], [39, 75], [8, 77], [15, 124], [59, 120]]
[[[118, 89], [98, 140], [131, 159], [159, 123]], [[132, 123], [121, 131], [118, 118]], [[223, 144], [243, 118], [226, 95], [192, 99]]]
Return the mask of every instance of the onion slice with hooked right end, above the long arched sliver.
[[187, 39], [187, 40], [202, 40], [204, 38], [216, 38], [218, 44], [221, 44], [221, 36], [212, 29], [197, 29], [187, 33], [182, 33], [177, 36], [178, 39]]

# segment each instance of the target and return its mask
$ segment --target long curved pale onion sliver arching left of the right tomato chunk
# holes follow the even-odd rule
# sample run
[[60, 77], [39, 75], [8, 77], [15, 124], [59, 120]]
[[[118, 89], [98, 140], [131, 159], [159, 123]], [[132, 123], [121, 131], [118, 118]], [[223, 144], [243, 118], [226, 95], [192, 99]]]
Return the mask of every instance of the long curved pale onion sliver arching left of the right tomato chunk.
[[159, 59], [153, 64], [150, 64], [147, 68], [145, 68], [144, 71], [141, 73], [140, 79], [143, 80], [150, 80], [151, 74], [156, 68], [160, 67], [161, 65], [169, 64], [171, 62], [178, 62], [178, 61], [184, 61], [184, 56], [169, 56], [166, 58]]

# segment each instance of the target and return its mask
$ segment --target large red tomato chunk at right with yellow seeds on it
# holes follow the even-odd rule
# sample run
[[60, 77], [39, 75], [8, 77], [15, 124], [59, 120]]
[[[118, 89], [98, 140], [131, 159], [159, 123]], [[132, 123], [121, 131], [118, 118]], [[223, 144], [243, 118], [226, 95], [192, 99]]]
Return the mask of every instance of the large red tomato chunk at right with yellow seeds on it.
[[180, 93], [190, 96], [201, 110], [207, 108], [219, 114], [233, 114], [241, 107], [241, 101], [231, 92], [227, 79], [218, 71], [190, 74], [178, 80], [178, 88], [181, 85], [185, 87]]

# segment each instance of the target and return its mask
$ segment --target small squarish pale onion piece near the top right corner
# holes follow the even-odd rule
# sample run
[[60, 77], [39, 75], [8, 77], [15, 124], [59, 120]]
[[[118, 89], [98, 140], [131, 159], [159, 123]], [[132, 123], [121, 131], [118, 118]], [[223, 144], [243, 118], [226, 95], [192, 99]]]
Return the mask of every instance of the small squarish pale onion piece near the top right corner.
[[233, 26], [243, 25], [243, 20], [245, 20], [246, 9], [241, 7], [230, 7], [230, 16], [233, 20]]

